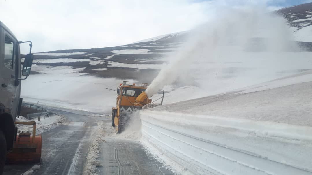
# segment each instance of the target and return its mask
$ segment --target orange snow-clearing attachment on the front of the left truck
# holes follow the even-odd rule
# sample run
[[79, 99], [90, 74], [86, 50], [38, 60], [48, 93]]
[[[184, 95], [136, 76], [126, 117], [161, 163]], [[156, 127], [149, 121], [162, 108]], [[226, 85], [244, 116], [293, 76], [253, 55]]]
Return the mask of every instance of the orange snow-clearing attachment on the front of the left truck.
[[40, 162], [41, 159], [41, 135], [36, 136], [36, 122], [20, 122], [15, 124], [32, 125], [30, 133], [20, 133], [16, 136], [13, 148], [7, 154], [7, 163]]

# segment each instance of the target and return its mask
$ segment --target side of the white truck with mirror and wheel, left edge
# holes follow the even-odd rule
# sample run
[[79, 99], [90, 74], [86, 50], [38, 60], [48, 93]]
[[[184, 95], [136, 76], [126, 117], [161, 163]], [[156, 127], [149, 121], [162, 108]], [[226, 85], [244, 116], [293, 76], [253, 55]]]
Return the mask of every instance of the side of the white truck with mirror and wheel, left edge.
[[[32, 42], [30, 46], [32, 48]], [[21, 54], [14, 34], [0, 21], [0, 174], [2, 174], [6, 153], [13, 147], [17, 134], [15, 118], [22, 104], [20, 99], [21, 80], [26, 79], [32, 65], [32, 54], [27, 54], [21, 67]], [[31, 49], [30, 49], [31, 53]], [[24, 78], [21, 78], [26, 76]]]

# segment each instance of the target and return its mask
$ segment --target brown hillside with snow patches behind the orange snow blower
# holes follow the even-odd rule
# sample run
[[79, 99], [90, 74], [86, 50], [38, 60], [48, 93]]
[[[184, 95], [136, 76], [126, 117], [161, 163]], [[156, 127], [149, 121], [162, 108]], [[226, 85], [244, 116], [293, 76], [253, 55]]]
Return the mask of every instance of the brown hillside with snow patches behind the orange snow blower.
[[[301, 5], [302, 8], [297, 11], [292, 9], [299, 6], [276, 12], [287, 13], [289, 17], [292, 17], [290, 19], [304, 20], [309, 17], [305, 9], [310, 8], [310, 5], [311, 3]], [[290, 13], [296, 13], [295, 17]], [[294, 34], [309, 27], [309, 25], [303, 26], [301, 23], [301, 27], [298, 27], [295, 25], [296, 21], [291, 24], [293, 24], [292, 27], [298, 29]], [[270, 26], [270, 21], [267, 21], [265, 25]], [[220, 26], [218, 29], [220, 35], [214, 35], [206, 41], [214, 41], [217, 37], [220, 41], [223, 40], [223, 36], [228, 37], [229, 43], [232, 43], [232, 40], [241, 40], [232, 37], [236, 35], [234, 33], [236, 29], [231, 33], [223, 31], [226, 28]], [[241, 29], [237, 28], [237, 30]], [[226, 35], [222, 32], [225, 32]], [[216, 32], [212, 33], [216, 34]], [[129, 45], [35, 53], [31, 76], [22, 83], [22, 96], [25, 101], [37, 102], [39, 100], [50, 105], [108, 114], [111, 107], [115, 105], [115, 90], [119, 83], [123, 80], [134, 83], [151, 83], [159, 71], [170, 60], [175, 59], [177, 55], [175, 51], [179, 52], [181, 48], [183, 50], [193, 48], [188, 43], [193, 43], [190, 40], [195, 40], [197, 35], [207, 38], [203, 34], [185, 31]], [[175, 69], [184, 69], [185, 71], [182, 71], [182, 74], [172, 84], [159, 89], [165, 91], [164, 103], [228, 92], [311, 69], [311, 52], [298, 52], [298, 50], [284, 53], [263, 52], [263, 44], [259, 47], [258, 40], [259, 38], [254, 37], [247, 44], [239, 43], [239, 47], [242, 46], [240, 49], [246, 52], [241, 52], [235, 45], [225, 49], [219, 42], [213, 46], [214, 50], [207, 50], [204, 56], [184, 54], [187, 57], [180, 62], [191, 60], [188, 68], [182, 68], [181, 65], [175, 66]], [[284, 40], [286, 39], [274, 41], [267, 47], [274, 48], [276, 45], [285, 43], [282, 42]], [[245, 41], [242, 40], [242, 42]], [[256, 46], [253, 43], [256, 43]], [[310, 42], [299, 43], [300, 46], [305, 47], [304, 50], [308, 51], [312, 50], [310, 44]], [[200, 43], [198, 48], [200, 48]], [[208, 59], [201, 60], [206, 57]], [[152, 99], [157, 99], [159, 96], [160, 94], [154, 94]]]

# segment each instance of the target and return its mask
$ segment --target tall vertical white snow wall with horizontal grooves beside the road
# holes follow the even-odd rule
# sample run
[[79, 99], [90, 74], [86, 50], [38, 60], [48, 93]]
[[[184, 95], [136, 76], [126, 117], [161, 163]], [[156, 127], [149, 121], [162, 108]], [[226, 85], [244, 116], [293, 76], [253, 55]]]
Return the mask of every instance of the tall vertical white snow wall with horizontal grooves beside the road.
[[164, 111], [140, 116], [145, 148], [180, 174], [312, 173], [309, 127]]

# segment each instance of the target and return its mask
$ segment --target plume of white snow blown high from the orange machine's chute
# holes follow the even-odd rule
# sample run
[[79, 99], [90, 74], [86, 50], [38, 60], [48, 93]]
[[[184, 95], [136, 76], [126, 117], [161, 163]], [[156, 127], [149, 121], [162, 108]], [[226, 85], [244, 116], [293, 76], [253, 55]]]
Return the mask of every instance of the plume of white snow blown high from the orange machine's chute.
[[[296, 44], [290, 42], [293, 34], [283, 17], [260, 7], [227, 9], [224, 12], [222, 10], [223, 14], [216, 14], [214, 19], [194, 29], [188, 42], [168, 57], [168, 64], [146, 90], [149, 96], [172, 83], [209, 85], [211, 89], [208, 90], [217, 89], [229, 85], [220, 78], [229, 74], [226, 71], [231, 71], [223, 69], [227, 62], [249, 59], [249, 67], [264, 67], [270, 71], [274, 66], [259, 63], [259, 59], [266, 57], [273, 60], [280, 54], [297, 50]], [[254, 60], [257, 61], [253, 64]], [[245, 73], [241, 79], [235, 79], [236, 82], [231, 80], [230, 83], [236, 83], [236, 88], [258, 83], [252, 82], [261, 79], [258, 74], [254, 72], [255, 77], [251, 78]]]

